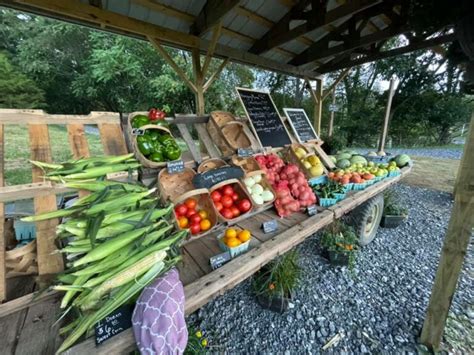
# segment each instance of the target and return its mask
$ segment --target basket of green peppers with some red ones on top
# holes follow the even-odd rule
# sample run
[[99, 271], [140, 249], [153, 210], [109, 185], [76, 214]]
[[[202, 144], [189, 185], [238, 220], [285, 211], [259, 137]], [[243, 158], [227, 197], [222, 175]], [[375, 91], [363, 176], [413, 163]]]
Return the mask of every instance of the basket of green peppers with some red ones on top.
[[154, 108], [147, 114], [133, 112], [128, 116], [133, 152], [148, 168], [161, 168], [167, 162], [181, 158], [181, 148], [171, 134], [165, 116], [163, 111]]

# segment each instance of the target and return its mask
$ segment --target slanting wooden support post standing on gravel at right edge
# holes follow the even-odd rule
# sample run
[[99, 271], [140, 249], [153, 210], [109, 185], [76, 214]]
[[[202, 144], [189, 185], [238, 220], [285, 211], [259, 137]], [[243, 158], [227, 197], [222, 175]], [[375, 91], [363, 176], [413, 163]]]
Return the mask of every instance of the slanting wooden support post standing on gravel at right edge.
[[474, 115], [459, 165], [454, 206], [420, 341], [437, 350], [474, 227]]

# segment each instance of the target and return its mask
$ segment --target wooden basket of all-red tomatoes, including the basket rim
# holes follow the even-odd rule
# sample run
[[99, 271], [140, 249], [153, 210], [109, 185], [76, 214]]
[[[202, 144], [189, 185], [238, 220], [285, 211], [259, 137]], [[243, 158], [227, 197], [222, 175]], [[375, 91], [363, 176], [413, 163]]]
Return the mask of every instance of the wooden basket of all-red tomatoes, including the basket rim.
[[216, 184], [210, 192], [214, 207], [224, 222], [232, 223], [252, 210], [252, 200], [237, 179]]

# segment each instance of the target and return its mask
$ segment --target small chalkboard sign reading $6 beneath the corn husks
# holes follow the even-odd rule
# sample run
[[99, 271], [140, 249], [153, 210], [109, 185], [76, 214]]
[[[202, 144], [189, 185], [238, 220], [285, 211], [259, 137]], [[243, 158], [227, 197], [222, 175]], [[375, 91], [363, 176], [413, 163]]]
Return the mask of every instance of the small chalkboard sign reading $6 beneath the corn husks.
[[132, 326], [132, 306], [125, 305], [95, 324], [95, 344], [102, 344]]

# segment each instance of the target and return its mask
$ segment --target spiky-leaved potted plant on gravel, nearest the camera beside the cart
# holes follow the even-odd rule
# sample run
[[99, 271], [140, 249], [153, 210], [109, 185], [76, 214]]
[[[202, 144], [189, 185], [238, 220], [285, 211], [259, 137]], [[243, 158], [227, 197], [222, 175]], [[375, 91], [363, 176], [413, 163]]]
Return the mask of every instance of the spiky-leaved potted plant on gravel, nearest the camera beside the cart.
[[263, 266], [252, 282], [258, 303], [274, 312], [285, 312], [300, 276], [301, 268], [295, 250]]

